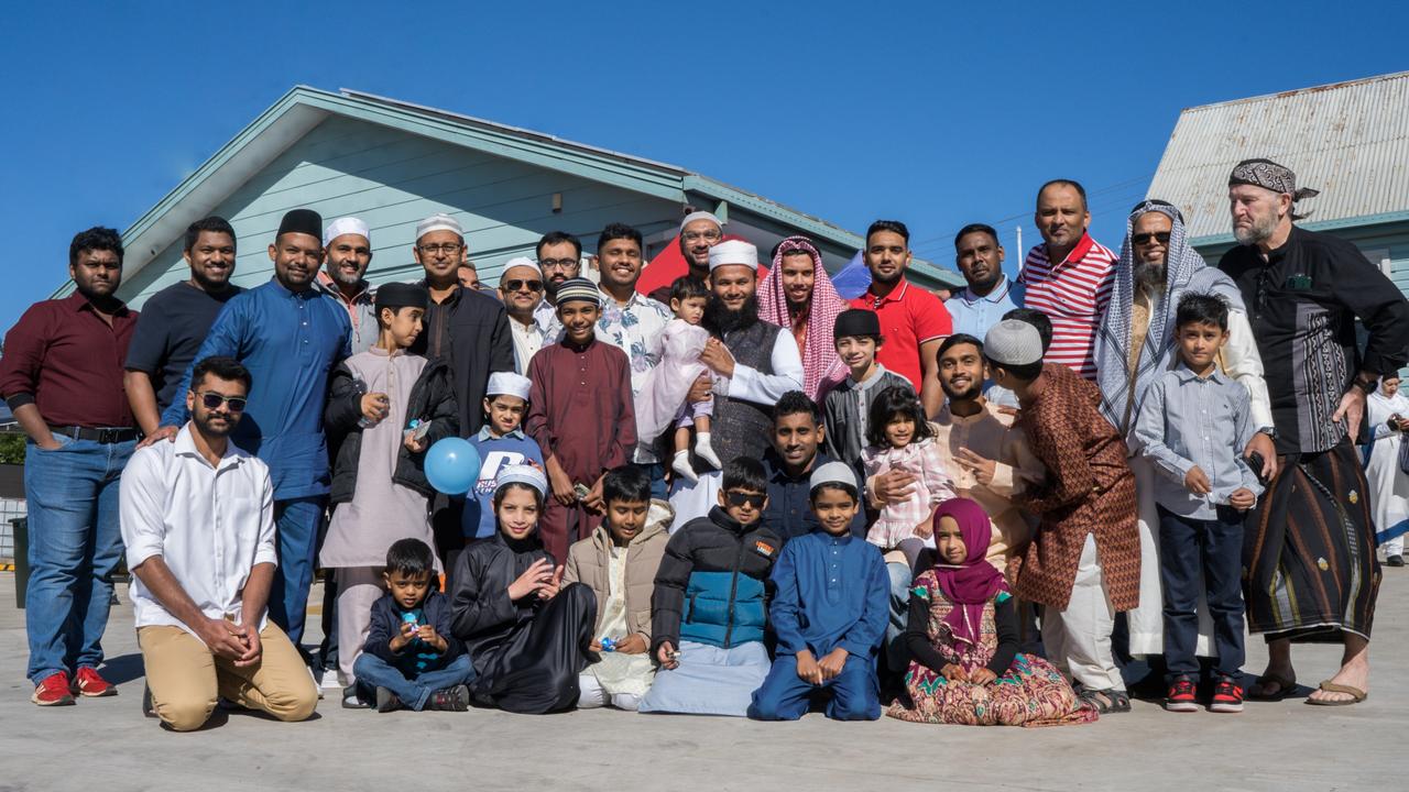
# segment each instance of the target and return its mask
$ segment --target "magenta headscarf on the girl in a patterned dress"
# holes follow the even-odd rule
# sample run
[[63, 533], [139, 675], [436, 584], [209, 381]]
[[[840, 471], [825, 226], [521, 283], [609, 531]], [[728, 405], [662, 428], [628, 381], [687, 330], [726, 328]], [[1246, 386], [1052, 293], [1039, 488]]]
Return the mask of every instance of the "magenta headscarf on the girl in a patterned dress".
[[950, 626], [955, 638], [976, 644], [983, 620], [983, 605], [993, 599], [998, 592], [1007, 590], [1003, 574], [985, 559], [988, 544], [993, 538], [993, 526], [983, 507], [968, 497], [951, 497], [940, 503], [938, 509], [934, 510], [936, 533], [940, 530], [941, 517], [951, 517], [960, 524], [960, 534], [964, 537], [965, 550], [968, 550], [964, 564], [944, 564], [940, 559], [934, 565], [934, 576], [938, 578], [940, 590], [954, 603], [954, 610], [944, 617], [944, 623]]

